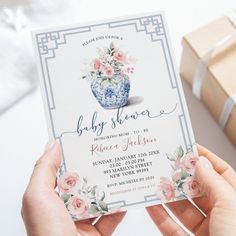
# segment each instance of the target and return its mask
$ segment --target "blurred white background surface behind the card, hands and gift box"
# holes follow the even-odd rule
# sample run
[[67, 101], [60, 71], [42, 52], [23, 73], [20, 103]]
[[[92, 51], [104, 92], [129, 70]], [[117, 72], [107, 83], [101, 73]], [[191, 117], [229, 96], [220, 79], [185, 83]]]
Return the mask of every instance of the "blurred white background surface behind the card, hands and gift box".
[[[48, 140], [30, 30], [67, 23], [163, 10], [177, 65], [181, 38], [236, 9], [235, 0], [0, 0], [0, 225], [4, 236], [25, 234], [21, 198]], [[235, 81], [234, 81], [235, 82]], [[184, 91], [198, 143], [236, 169], [236, 149], [197, 100]], [[144, 209], [128, 212], [114, 235], [160, 235]]]

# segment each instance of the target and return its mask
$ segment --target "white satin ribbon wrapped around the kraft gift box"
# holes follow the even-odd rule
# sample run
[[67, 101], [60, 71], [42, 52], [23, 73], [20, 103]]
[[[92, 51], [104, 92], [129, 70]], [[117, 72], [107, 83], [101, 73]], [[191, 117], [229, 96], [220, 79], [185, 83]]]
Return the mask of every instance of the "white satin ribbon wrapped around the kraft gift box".
[[[232, 24], [236, 27], [236, 12], [231, 12], [227, 14], [228, 19], [231, 21]], [[213, 55], [213, 53], [219, 49], [220, 47], [226, 45], [228, 42], [232, 40], [233, 37], [235, 37], [236, 32], [232, 33], [230, 35], [227, 35], [220, 41], [218, 41], [212, 48], [210, 48], [205, 55], [199, 60], [199, 63], [196, 68], [196, 72], [193, 79], [193, 86], [192, 86], [192, 92], [193, 94], [198, 98], [201, 99], [201, 87], [203, 83], [203, 79], [205, 77], [205, 74], [207, 72], [207, 68], [209, 65], [209, 61]], [[224, 129], [230, 114], [233, 110], [234, 105], [236, 104], [236, 94], [230, 96], [227, 101], [225, 102], [223, 111], [221, 112], [220, 118], [219, 118], [219, 124]]]

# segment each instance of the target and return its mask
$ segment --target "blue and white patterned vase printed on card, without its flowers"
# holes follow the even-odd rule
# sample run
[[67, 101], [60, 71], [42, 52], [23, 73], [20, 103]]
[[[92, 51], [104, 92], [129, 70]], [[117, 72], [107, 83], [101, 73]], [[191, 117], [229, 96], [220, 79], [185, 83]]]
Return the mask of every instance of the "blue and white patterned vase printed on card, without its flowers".
[[130, 91], [129, 76], [116, 71], [111, 78], [97, 76], [91, 82], [91, 90], [99, 104], [105, 109], [123, 107]]

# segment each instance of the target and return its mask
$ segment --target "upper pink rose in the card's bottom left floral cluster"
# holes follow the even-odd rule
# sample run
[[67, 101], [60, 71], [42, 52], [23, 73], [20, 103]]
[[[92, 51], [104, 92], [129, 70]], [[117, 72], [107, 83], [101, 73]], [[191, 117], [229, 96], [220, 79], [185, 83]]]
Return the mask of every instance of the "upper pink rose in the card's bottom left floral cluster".
[[78, 181], [78, 174], [67, 172], [59, 178], [57, 186], [61, 192], [68, 193], [76, 186]]

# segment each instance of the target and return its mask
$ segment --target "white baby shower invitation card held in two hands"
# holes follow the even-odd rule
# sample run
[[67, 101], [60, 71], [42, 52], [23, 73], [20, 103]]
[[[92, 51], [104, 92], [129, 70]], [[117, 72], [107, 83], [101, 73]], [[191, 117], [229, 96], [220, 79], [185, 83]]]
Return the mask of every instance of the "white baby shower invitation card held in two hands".
[[38, 30], [33, 42], [74, 220], [200, 195], [163, 13]]

